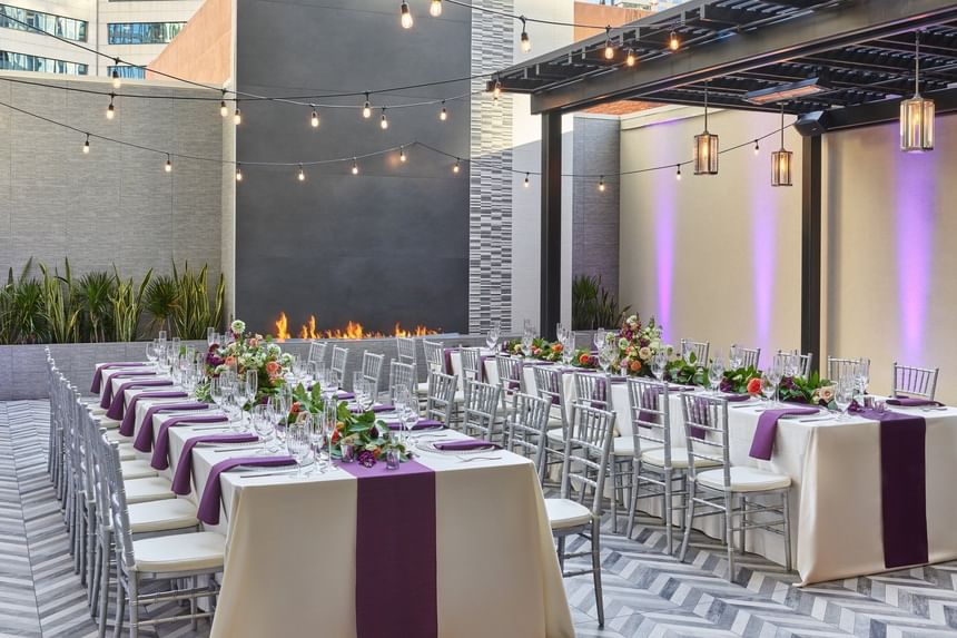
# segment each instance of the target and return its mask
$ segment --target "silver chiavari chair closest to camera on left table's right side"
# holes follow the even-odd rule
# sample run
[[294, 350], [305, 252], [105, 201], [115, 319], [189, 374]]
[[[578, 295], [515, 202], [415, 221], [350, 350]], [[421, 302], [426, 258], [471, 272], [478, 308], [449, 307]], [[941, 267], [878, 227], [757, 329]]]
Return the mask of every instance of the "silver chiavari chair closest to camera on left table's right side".
[[[558, 540], [559, 565], [563, 577], [591, 573], [594, 580], [599, 627], [604, 627], [604, 602], [601, 587], [601, 517], [604, 481], [608, 472], [614, 413], [581, 403], [572, 405], [572, 426], [565, 438], [562, 463], [561, 498], [545, 499], [552, 534]], [[574, 459], [574, 462], [572, 460]], [[591, 508], [569, 498], [572, 484], [582, 492], [592, 490]], [[591, 541], [588, 551], [566, 552], [565, 540], [581, 534]], [[569, 558], [591, 556], [590, 568], [565, 571]]]

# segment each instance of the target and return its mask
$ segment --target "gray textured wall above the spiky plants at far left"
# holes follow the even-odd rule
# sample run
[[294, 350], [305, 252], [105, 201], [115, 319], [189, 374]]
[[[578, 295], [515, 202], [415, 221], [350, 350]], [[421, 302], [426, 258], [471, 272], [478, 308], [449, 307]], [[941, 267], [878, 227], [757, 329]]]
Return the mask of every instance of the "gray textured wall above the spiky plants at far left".
[[[16, 84], [29, 80], [49, 86]], [[63, 79], [0, 72], [0, 101], [71, 125], [83, 131], [216, 161], [174, 159], [91, 139], [0, 106], [0, 269], [19, 272], [27, 259], [62, 269], [70, 258], [75, 274], [111, 269], [138, 277], [152, 267], [168, 273], [181, 265], [209, 264], [211, 281], [220, 263], [223, 153], [219, 102], [198, 100], [116, 100], [49, 88], [71, 86], [111, 90], [106, 78]], [[157, 96], [208, 95], [128, 80], [120, 92]]]

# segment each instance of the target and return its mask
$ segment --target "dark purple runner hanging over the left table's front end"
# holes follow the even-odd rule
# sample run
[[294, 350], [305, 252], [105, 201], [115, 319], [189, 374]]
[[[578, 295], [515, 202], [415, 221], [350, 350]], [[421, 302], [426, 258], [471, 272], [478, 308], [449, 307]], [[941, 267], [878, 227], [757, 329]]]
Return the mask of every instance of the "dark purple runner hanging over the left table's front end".
[[436, 638], [435, 472], [415, 461], [339, 468], [358, 480], [356, 635]]

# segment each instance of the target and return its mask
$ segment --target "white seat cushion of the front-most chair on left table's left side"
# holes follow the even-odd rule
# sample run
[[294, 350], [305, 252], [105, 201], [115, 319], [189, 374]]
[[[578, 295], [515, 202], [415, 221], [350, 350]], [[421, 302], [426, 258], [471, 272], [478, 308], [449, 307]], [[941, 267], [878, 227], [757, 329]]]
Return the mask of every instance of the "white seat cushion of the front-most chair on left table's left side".
[[223, 567], [226, 537], [193, 532], [132, 541], [137, 571], [177, 572]]

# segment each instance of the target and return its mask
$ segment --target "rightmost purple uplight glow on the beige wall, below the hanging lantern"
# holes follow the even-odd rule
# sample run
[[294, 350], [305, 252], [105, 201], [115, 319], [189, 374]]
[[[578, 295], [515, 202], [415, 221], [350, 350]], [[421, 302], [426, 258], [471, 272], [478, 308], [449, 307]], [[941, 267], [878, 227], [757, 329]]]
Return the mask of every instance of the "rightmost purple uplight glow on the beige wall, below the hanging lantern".
[[911, 364], [919, 364], [923, 359], [927, 300], [930, 294], [930, 261], [934, 254], [936, 161], [933, 153], [897, 153], [896, 164], [900, 355]]

